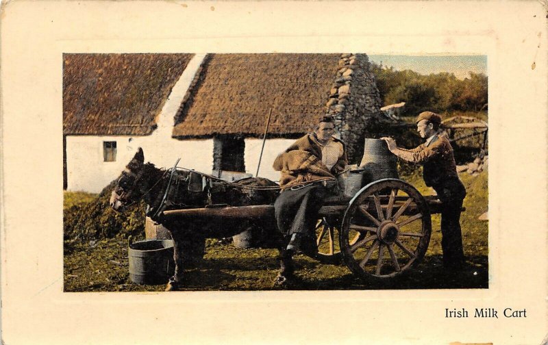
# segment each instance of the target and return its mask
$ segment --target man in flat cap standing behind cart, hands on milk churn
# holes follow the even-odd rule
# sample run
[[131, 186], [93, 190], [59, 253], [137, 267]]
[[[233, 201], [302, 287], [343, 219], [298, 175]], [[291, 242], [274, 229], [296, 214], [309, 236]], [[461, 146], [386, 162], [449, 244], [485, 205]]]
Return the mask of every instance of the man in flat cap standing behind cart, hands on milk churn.
[[453, 148], [439, 130], [441, 118], [433, 112], [421, 112], [416, 118], [416, 130], [424, 144], [407, 150], [396, 146], [392, 138], [382, 138], [388, 144], [390, 152], [407, 162], [423, 164], [423, 178], [426, 186], [434, 188], [442, 202], [441, 246], [443, 266], [459, 269], [464, 265], [462, 234], [460, 230], [460, 211], [466, 196], [464, 185], [458, 178]]

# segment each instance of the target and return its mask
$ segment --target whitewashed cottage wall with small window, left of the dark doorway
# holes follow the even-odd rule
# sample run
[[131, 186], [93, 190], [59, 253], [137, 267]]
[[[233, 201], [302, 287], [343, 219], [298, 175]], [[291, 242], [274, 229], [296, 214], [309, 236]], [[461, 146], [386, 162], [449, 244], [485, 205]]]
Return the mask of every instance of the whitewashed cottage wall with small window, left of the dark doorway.
[[[131, 139], [131, 141], [129, 141]], [[103, 141], [116, 141], [116, 162], [103, 162]], [[175, 140], [169, 136], [67, 136], [67, 190], [98, 193], [118, 177], [138, 147], [145, 162], [171, 168], [178, 166], [210, 173], [213, 166], [213, 140]]]

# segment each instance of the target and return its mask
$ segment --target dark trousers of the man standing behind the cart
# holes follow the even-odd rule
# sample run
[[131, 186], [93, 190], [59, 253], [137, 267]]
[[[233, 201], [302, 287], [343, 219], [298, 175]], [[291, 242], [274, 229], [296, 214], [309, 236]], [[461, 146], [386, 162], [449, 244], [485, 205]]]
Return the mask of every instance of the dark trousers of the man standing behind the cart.
[[462, 248], [462, 231], [460, 229], [460, 211], [466, 189], [460, 179], [447, 179], [443, 183], [432, 186], [442, 202], [441, 209], [441, 247], [443, 250], [443, 265], [458, 267], [464, 264]]

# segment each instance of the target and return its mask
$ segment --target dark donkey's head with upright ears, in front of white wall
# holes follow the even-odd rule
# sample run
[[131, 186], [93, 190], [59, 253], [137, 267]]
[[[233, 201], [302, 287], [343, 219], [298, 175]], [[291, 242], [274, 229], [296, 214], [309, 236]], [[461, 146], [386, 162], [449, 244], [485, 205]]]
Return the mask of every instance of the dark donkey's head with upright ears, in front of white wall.
[[121, 212], [123, 207], [138, 201], [142, 196], [142, 184], [145, 177], [145, 155], [139, 148], [132, 160], [125, 166], [110, 195], [110, 207]]

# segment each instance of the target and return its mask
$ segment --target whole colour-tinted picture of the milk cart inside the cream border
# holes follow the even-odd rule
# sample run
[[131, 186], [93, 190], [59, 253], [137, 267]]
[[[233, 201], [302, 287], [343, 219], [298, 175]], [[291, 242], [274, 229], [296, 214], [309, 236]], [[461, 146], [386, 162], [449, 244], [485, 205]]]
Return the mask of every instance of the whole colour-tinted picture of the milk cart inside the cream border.
[[63, 53], [63, 291], [488, 289], [487, 66]]

